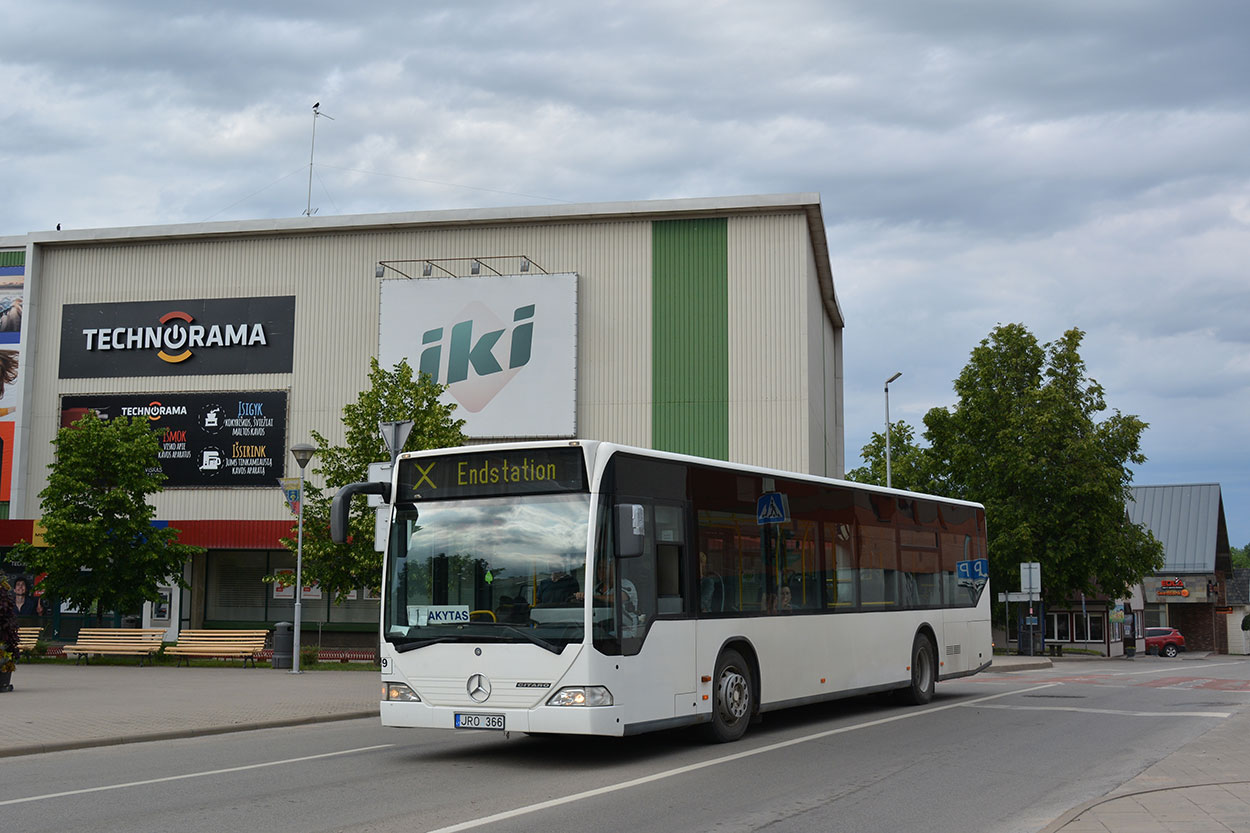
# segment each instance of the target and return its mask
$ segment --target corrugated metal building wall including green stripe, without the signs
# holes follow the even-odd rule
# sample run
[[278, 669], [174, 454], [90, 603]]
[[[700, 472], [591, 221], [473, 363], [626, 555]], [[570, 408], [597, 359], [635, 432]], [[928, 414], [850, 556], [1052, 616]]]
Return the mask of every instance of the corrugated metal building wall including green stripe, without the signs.
[[[840, 474], [841, 330], [820, 304], [806, 223], [794, 211], [41, 244], [28, 275], [38, 349], [24, 368], [34, 374], [26, 503], [14, 509], [38, 514], [66, 394], [288, 390], [288, 445], [312, 430], [341, 442], [342, 405], [378, 349], [380, 260], [528, 255], [546, 271], [578, 273], [584, 438]], [[292, 373], [58, 378], [64, 304], [291, 294]], [[289, 518], [278, 489], [170, 489], [156, 510]]]

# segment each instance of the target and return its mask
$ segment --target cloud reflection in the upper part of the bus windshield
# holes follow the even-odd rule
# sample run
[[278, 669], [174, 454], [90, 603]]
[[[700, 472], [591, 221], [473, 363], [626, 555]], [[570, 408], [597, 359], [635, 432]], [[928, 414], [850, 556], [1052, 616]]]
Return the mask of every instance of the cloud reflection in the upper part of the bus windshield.
[[475, 500], [420, 507], [411, 554], [471, 554], [492, 567], [550, 572], [581, 564], [590, 503], [584, 495], [550, 500]]

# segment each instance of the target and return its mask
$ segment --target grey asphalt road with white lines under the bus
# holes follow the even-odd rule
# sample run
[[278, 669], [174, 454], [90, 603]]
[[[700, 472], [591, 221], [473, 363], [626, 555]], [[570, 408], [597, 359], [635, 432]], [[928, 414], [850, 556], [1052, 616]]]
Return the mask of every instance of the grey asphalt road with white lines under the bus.
[[1034, 832], [1250, 704], [1250, 663], [1065, 663], [695, 733], [539, 739], [374, 720], [6, 759], [5, 829]]

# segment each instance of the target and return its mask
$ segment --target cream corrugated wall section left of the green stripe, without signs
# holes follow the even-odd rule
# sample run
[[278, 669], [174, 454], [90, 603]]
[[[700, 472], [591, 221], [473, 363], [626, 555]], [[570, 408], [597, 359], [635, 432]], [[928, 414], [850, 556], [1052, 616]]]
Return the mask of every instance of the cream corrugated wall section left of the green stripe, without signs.
[[[309, 440], [314, 429], [331, 443], [341, 442], [342, 405], [365, 384], [369, 356], [378, 350], [379, 260], [525, 254], [548, 271], [579, 273], [578, 432], [651, 444], [648, 221], [170, 239], [40, 250], [39, 276], [26, 308], [28, 316], [38, 316], [39, 349], [28, 355], [24, 369], [36, 381], [24, 408], [24, 419], [30, 420], [29, 488], [25, 505], [14, 508], [21, 517], [38, 514], [65, 394], [289, 390], [288, 445]], [[290, 294], [298, 296], [292, 373], [58, 379], [62, 304]], [[296, 474], [285, 449], [282, 458], [288, 474]], [[169, 489], [156, 498], [156, 512], [159, 518], [181, 519], [289, 517], [276, 488]]]

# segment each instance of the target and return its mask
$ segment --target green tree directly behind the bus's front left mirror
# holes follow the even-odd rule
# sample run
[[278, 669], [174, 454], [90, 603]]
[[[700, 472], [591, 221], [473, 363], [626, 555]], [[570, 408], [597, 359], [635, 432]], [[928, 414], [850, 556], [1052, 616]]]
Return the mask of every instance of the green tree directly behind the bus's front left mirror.
[[[340, 487], [368, 479], [369, 464], [390, 462], [390, 452], [378, 430], [380, 422], [412, 420], [412, 433], [405, 452], [428, 448], [454, 448], [465, 440], [465, 420], [454, 419], [454, 404], [439, 401], [446, 390], [426, 374], [415, 374], [408, 361], [392, 370], [369, 360], [369, 388], [355, 403], [342, 408], [345, 442], [330, 445], [320, 433], [312, 432], [316, 457], [312, 472], [324, 488], [305, 482], [304, 487], [304, 582], [319, 582], [321, 589], [338, 599], [356, 588], [378, 589], [381, 582], [381, 553], [374, 550], [374, 509], [365, 500], [351, 504], [350, 540], [330, 540], [330, 502]], [[295, 530], [282, 539], [295, 552]]]

